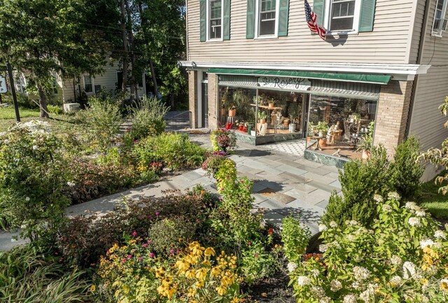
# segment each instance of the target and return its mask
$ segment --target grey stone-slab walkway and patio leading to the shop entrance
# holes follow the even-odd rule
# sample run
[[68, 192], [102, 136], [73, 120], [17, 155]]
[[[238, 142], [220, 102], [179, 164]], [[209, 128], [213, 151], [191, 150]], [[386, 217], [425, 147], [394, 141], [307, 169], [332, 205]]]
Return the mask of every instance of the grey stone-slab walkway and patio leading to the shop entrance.
[[[191, 139], [202, 146], [210, 146], [209, 135], [194, 135]], [[298, 215], [311, 233], [316, 234], [318, 218], [322, 216], [331, 192], [340, 192], [340, 183], [335, 167], [304, 160], [303, 149], [304, 140], [264, 146], [240, 144], [230, 159], [236, 162], [239, 176], [254, 180], [255, 208], [265, 209], [267, 223], [281, 225], [285, 216]], [[105, 213], [123, 202], [123, 198], [161, 197], [164, 190], [185, 192], [197, 184], [216, 193], [214, 179], [205, 176], [202, 169], [195, 169], [157, 183], [70, 206], [66, 213], [69, 216]], [[20, 243], [11, 243], [10, 236], [0, 233], [0, 251]]]

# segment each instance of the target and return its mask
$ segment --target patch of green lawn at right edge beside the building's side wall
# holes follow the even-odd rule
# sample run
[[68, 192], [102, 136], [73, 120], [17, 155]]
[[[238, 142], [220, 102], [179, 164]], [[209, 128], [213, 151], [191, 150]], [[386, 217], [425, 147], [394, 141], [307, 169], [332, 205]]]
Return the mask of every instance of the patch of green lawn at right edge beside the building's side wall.
[[435, 184], [434, 181], [423, 183], [420, 201], [421, 206], [428, 209], [434, 218], [448, 220], [448, 195], [439, 192], [442, 185], [446, 184]]

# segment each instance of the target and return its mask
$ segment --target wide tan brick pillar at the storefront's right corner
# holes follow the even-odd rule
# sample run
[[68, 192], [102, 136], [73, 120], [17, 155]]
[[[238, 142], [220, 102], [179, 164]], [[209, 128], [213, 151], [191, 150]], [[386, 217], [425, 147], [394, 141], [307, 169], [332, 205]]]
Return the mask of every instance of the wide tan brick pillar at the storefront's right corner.
[[391, 80], [388, 85], [381, 85], [374, 144], [384, 145], [389, 157], [395, 153], [398, 143], [405, 139], [412, 83]]

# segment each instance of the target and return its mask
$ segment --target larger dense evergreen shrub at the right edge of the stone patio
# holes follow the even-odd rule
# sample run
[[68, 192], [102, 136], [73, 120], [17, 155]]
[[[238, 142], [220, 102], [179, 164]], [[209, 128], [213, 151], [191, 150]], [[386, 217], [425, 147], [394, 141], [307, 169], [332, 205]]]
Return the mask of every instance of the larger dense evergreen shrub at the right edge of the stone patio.
[[373, 195], [384, 195], [392, 188], [390, 166], [383, 146], [372, 148], [372, 155], [365, 162], [347, 162], [344, 171], [339, 170], [343, 197], [332, 193], [322, 222], [342, 224], [346, 220], [357, 220], [363, 226], [370, 225], [376, 215]]

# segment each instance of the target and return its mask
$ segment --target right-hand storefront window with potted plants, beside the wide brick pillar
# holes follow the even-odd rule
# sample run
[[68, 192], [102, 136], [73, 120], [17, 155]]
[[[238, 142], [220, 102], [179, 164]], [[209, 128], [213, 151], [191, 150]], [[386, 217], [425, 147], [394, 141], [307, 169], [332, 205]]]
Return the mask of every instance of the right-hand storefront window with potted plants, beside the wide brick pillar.
[[307, 148], [318, 153], [360, 158], [370, 151], [377, 101], [311, 95]]

